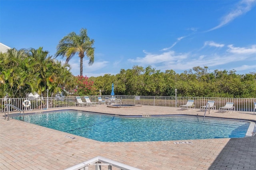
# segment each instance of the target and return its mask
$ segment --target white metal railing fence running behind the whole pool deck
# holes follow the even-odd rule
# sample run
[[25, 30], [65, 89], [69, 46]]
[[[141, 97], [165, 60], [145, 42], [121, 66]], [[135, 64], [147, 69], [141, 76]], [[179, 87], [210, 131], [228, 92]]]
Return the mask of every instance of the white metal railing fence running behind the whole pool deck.
[[[84, 97], [80, 96], [85, 102]], [[101, 96], [102, 100], [110, 95]], [[125, 96], [115, 95], [116, 99], [122, 99], [122, 104], [146, 105], [146, 106], [162, 106], [162, 107], [179, 107], [185, 105], [188, 100], [193, 99], [195, 109], [205, 106], [207, 101], [215, 101], [216, 109], [223, 107], [227, 102], [234, 102], [234, 111], [254, 111], [254, 101], [256, 99], [242, 98], [219, 98], [219, 97], [169, 97], [169, 96]], [[98, 102], [98, 96], [89, 96], [90, 101]], [[23, 101], [30, 100], [30, 107], [24, 107]], [[48, 104], [47, 104], [48, 103]], [[69, 97], [40, 97], [40, 98], [11, 98], [0, 99], [0, 112], [4, 112], [4, 105], [11, 104], [15, 107], [26, 110], [42, 110], [77, 106], [76, 96]], [[16, 111], [12, 108], [10, 111]]]

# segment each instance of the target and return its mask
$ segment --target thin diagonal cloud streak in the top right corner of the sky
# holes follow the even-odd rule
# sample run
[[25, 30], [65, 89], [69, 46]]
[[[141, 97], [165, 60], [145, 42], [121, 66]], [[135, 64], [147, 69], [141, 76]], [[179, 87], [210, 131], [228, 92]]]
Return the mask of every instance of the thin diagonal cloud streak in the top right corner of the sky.
[[231, 10], [226, 16], [223, 16], [220, 24], [206, 32], [216, 30], [218, 28], [221, 28], [225, 26], [226, 24], [232, 22], [234, 19], [236, 19], [238, 16], [245, 14], [246, 12], [250, 11], [252, 7], [256, 4], [256, 0], [242, 0], [236, 6], [233, 10]]

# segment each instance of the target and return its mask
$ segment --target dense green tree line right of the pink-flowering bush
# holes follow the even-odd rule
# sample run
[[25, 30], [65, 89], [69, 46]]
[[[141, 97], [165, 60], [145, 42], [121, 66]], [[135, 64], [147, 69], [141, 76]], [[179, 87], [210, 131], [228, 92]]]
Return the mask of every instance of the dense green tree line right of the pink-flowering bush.
[[110, 95], [114, 82], [116, 95], [175, 96], [177, 89], [177, 96], [183, 97], [256, 97], [256, 73], [239, 75], [234, 70], [210, 73], [206, 66], [179, 74], [172, 69], [161, 72], [151, 66], [135, 65], [132, 69], [121, 69], [116, 75], [89, 79], [103, 95]]

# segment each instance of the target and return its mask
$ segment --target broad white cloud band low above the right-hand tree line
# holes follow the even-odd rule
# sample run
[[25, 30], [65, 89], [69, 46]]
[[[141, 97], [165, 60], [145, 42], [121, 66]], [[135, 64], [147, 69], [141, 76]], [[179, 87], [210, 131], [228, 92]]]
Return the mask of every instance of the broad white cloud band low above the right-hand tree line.
[[[224, 44], [215, 42], [206, 42], [206, 45], [214, 47], [225, 47]], [[144, 57], [137, 57], [136, 59], [129, 59], [128, 61], [133, 63], [138, 63], [142, 66], [152, 65], [156, 69], [165, 71], [168, 69], [174, 70], [188, 70], [195, 66], [208, 66], [208, 67], [218, 67], [225, 64], [230, 64], [234, 62], [241, 62], [247, 60], [256, 60], [256, 45], [250, 47], [234, 47], [233, 45], [226, 46], [226, 50], [222, 53], [176, 53], [175, 51], [168, 51], [162, 53], [148, 53], [145, 52]], [[243, 54], [241, 56], [241, 54]], [[254, 56], [254, 59], [252, 59]], [[254, 66], [248, 66], [247, 68], [253, 68]], [[238, 67], [237, 67], [238, 68]], [[229, 68], [227, 68], [229, 69]], [[242, 69], [242, 68], [240, 68]], [[244, 67], [246, 69], [246, 67]]]

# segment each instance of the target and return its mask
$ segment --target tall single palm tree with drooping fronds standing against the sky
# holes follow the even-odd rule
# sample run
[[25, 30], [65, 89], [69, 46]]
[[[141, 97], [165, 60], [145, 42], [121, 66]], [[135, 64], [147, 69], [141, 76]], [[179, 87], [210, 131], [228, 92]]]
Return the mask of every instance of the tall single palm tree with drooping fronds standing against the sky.
[[80, 34], [77, 35], [75, 32], [69, 33], [67, 36], [62, 38], [57, 45], [57, 56], [66, 56], [66, 63], [70, 61], [70, 59], [78, 53], [80, 57], [80, 76], [83, 75], [83, 58], [84, 52], [86, 52], [86, 56], [89, 58], [89, 65], [94, 63], [94, 40], [90, 40], [87, 35], [87, 30], [82, 28], [80, 30]]

